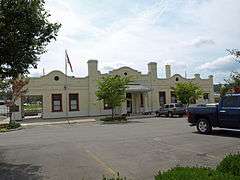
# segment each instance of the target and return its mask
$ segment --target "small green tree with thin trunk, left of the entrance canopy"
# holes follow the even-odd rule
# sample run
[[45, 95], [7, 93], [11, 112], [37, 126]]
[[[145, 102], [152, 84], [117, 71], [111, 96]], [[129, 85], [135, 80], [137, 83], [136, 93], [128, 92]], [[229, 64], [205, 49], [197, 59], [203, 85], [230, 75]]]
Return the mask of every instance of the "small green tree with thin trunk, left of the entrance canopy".
[[126, 99], [126, 89], [129, 79], [120, 76], [107, 76], [98, 81], [96, 96], [98, 100], [104, 100], [112, 109], [112, 119], [115, 116], [115, 108], [121, 106]]

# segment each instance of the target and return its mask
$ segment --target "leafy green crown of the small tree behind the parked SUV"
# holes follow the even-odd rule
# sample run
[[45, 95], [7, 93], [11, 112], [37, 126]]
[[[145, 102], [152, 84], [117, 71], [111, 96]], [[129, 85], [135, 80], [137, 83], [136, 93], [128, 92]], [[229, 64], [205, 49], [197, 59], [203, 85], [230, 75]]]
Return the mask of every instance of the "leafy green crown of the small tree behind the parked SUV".
[[193, 83], [178, 83], [174, 88], [177, 99], [189, 106], [202, 96], [202, 89]]

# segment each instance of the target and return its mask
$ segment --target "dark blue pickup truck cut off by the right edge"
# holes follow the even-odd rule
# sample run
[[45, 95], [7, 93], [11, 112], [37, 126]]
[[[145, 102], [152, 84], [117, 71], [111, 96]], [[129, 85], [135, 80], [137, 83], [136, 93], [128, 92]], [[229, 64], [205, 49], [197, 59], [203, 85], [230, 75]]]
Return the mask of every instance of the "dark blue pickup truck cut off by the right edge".
[[211, 133], [213, 127], [240, 129], [240, 94], [228, 94], [218, 105], [189, 107], [187, 117], [203, 134]]

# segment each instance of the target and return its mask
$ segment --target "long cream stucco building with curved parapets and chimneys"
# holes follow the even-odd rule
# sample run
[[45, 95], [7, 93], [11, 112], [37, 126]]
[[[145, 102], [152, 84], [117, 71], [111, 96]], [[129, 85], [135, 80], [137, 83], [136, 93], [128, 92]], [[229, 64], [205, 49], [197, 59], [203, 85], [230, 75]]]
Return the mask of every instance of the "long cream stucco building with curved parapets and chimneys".
[[[101, 74], [96, 60], [88, 61], [88, 76], [66, 77], [60, 71], [38, 78], [30, 78], [27, 95], [40, 95], [43, 101], [43, 118], [76, 116], [97, 116], [111, 114], [111, 110], [102, 101], [97, 101], [95, 92], [97, 81], [104, 76], [127, 76], [131, 80], [127, 90], [127, 100], [118, 108], [118, 113], [138, 114], [155, 111], [160, 105], [176, 102], [171, 87], [180, 82], [193, 82], [204, 91], [204, 97], [198, 102], [213, 102], [213, 76], [202, 79], [199, 74], [186, 79], [179, 74], [172, 75], [170, 65], [165, 68], [166, 77], [158, 78], [157, 63], [148, 64], [148, 73], [142, 74], [130, 67], [114, 69]], [[67, 87], [65, 82], [67, 81]]]

